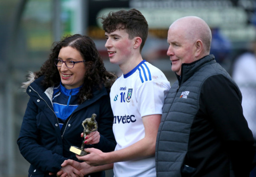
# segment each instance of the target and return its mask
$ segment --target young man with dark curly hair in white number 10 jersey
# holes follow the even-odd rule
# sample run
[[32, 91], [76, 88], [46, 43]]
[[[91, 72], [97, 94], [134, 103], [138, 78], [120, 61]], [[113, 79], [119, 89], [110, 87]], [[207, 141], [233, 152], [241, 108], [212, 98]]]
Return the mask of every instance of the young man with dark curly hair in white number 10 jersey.
[[102, 17], [102, 24], [110, 62], [123, 72], [110, 92], [117, 146], [109, 153], [87, 148], [90, 154], [77, 158], [101, 170], [114, 163], [115, 177], [155, 177], [156, 135], [170, 83], [142, 59], [148, 24], [141, 12], [110, 12]]

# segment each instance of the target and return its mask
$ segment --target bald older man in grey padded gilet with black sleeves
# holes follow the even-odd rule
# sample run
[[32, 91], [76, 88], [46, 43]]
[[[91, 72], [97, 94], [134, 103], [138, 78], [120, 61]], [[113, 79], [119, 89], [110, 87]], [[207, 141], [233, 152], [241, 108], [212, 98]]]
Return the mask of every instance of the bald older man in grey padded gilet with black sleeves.
[[167, 55], [177, 76], [156, 142], [158, 177], [247, 177], [254, 140], [242, 95], [210, 55], [211, 30], [198, 17], [171, 24]]

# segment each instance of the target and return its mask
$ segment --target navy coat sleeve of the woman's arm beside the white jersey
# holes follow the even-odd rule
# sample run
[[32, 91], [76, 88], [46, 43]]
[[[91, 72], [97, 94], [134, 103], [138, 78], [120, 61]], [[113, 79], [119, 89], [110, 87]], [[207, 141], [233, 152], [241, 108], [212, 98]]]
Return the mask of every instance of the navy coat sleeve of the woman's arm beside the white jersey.
[[98, 132], [100, 133], [100, 142], [95, 144], [95, 148], [103, 152], [115, 150], [116, 141], [113, 134], [113, 112], [109, 100], [109, 95], [100, 100], [100, 121], [98, 122]]

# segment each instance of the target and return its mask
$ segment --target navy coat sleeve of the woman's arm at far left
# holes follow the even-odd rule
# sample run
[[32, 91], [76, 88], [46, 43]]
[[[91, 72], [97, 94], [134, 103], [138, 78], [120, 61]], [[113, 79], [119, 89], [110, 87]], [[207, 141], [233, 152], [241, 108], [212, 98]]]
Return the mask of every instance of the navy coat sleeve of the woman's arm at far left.
[[[58, 151], [58, 146], [43, 145], [40, 142], [40, 132], [37, 129], [38, 107], [32, 99], [28, 101], [26, 112], [22, 121], [20, 135], [17, 144], [22, 156], [28, 160], [37, 170], [46, 172], [58, 172], [61, 163], [66, 159], [52, 150]], [[55, 144], [56, 142], [51, 142]], [[45, 146], [56, 147], [56, 149], [47, 149]], [[61, 149], [60, 149], [61, 151]]]

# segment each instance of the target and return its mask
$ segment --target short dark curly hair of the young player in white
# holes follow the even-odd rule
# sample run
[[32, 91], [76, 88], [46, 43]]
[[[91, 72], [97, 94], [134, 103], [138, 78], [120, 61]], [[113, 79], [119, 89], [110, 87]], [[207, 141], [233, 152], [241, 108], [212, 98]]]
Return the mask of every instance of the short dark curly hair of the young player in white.
[[140, 37], [142, 39], [140, 52], [148, 37], [148, 22], [137, 9], [120, 10], [109, 12], [108, 15], [100, 17], [102, 28], [106, 33], [112, 33], [117, 29], [126, 30], [129, 39]]

